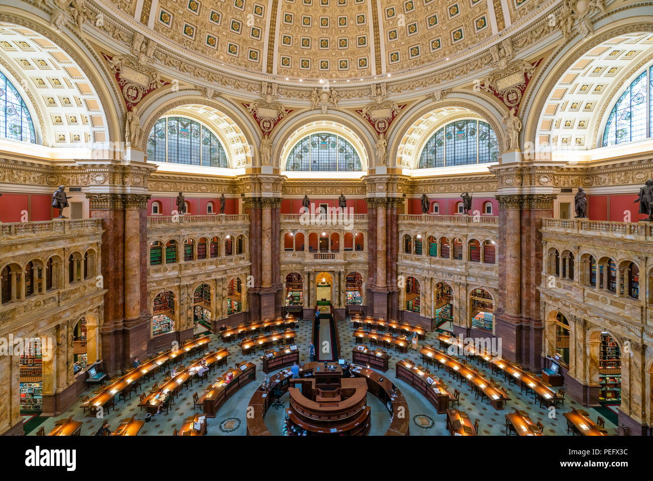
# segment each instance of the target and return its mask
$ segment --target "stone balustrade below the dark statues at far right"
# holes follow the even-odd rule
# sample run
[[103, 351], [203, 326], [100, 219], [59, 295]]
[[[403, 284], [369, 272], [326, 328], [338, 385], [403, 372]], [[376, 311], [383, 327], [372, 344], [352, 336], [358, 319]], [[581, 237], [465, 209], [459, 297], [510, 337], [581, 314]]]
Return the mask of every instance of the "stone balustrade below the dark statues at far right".
[[613, 222], [589, 219], [543, 219], [542, 231], [564, 232], [580, 235], [597, 234], [621, 239], [651, 240], [653, 225], [646, 222]]

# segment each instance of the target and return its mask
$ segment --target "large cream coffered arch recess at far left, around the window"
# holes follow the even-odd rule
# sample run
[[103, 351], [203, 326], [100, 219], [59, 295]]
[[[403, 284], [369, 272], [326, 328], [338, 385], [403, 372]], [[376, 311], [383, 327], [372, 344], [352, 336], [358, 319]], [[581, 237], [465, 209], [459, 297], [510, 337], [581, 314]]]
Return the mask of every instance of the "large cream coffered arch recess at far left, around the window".
[[[121, 141], [120, 93], [97, 52], [68, 24], [57, 30], [49, 16], [3, 8], [0, 32], [10, 46], [0, 50], [0, 68], [23, 97], [37, 135], [37, 144], [20, 142], [20, 152], [84, 159], [91, 158], [92, 149]], [[64, 98], [71, 107], [62, 105]]]

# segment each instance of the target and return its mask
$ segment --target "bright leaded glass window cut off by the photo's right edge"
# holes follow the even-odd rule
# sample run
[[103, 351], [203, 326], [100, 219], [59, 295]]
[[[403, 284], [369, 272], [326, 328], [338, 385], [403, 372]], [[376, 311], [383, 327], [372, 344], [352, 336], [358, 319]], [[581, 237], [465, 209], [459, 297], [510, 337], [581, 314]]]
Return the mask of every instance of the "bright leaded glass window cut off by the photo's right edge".
[[604, 147], [653, 137], [652, 88], [653, 65], [639, 74], [614, 103], [603, 131]]

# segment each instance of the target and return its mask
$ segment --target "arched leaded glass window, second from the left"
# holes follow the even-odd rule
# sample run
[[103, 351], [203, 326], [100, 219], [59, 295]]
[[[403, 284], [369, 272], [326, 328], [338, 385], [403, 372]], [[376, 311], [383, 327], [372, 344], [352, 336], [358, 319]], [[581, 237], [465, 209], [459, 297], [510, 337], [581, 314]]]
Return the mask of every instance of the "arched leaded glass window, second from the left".
[[227, 154], [206, 125], [185, 117], [157, 120], [148, 137], [148, 159], [204, 167], [229, 167]]

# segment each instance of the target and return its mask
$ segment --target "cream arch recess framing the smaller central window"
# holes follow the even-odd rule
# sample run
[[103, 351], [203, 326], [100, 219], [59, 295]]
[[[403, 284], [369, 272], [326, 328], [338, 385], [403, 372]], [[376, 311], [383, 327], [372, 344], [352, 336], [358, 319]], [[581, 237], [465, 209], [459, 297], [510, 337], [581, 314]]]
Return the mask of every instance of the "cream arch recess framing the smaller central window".
[[[321, 177], [328, 175], [332, 178], [360, 178], [368, 174], [368, 169], [375, 165], [376, 137], [371, 127], [365, 125], [359, 118], [355, 118], [340, 110], [327, 110], [323, 115], [317, 110], [298, 112], [283, 120], [272, 138], [272, 165], [289, 177]], [[311, 173], [286, 171], [285, 162], [291, 149], [301, 139], [310, 133], [330, 132], [340, 135], [356, 149], [360, 158], [362, 171], [355, 172], [329, 172]]]

